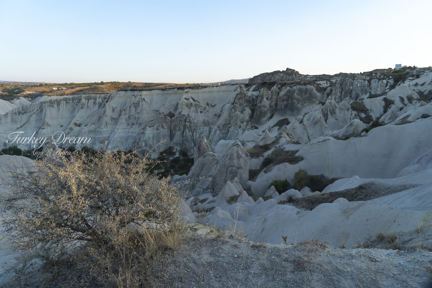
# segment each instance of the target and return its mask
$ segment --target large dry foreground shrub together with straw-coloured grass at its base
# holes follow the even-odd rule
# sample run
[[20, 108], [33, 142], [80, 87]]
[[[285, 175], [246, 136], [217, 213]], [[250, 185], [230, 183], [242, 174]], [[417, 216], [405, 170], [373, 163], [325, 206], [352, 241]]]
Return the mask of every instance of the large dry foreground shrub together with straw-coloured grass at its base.
[[45, 265], [86, 251], [76, 264], [83, 279], [145, 287], [155, 257], [180, 245], [184, 195], [169, 178], [150, 174], [155, 162], [135, 152], [47, 158], [29, 174], [17, 167], [16, 190], [2, 202], [3, 235], [16, 250], [43, 255]]

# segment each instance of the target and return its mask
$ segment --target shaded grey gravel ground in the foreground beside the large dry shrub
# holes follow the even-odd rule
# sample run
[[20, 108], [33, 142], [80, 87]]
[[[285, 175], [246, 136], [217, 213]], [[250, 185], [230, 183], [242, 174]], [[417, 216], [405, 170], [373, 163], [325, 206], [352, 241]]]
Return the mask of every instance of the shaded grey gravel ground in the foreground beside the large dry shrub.
[[[308, 241], [258, 244], [204, 225], [193, 230], [180, 249], [165, 252], [153, 267], [153, 287], [426, 288], [432, 279], [427, 250], [341, 249]], [[40, 282], [38, 265], [20, 276], [25, 279], [20, 285], [11, 285], [17, 277], [13, 270], [3, 273], [0, 287], [81, 287]]]

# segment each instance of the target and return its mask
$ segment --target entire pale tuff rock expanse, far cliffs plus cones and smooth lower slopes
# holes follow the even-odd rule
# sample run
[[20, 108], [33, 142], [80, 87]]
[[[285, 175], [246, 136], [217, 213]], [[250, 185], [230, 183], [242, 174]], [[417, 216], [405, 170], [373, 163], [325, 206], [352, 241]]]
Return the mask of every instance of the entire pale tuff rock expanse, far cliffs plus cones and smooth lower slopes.
[[[376, 231], [408, 235], [416, 224], [430, 224], [432, 72], [407, 68], [399, 82], [391, 75], [392, 69], [333, 76], [286, 70], [248, 84], [2, 100], [0, 145], [9, 146], [17, 131], [24, 137], [62, 131], [72, 142], [59, 147], [84, 145], [73, 143], [76, 137], [91, 137], [86, 145], [93, 148], [106, 142], [125, 150], [162, 142], [158, 149], [194, 156], [189, 174], [173, 178], [198, 179], [190, 184], [196, 198], [181, 207], [185, 222], [239, 228], [257, 242], [279, 244], [287, 235], [291, 243], [310, 238], [349, 247]], [[30, 149], [22, 140], [15, 144]], [[4, 157], [3, 174], [11, 164]], [[293, 185], [299, 168], [344, 179], [321, 193], [297, 187], [279, 195], [268, 188], [273, 180]], [[394, 193], [367, 201], [337, 194], [359, 187]], [[293, 204], [329, 195], [339, 199], [311, 211]]]

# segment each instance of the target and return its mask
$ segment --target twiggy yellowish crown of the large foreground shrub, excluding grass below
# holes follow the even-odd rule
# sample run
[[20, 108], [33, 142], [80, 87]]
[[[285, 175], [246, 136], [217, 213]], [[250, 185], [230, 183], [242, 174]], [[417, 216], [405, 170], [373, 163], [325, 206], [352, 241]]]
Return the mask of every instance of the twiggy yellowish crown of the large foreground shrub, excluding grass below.
[[178, 216], [178, 190], [149, 174], [153, 163], [122, 151], [38, 161], [34, 174], [14, 171], [3, 227], [20, 248], [103, 246], [108, 232], [134, 223], [164, 224]]

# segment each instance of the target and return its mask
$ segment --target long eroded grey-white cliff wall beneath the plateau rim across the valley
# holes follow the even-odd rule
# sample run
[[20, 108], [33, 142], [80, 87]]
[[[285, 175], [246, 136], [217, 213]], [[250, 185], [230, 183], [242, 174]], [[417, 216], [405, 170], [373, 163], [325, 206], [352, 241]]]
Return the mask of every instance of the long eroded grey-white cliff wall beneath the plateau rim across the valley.
[[[94, 148], [105, 141], [124, 149], [136, 143], [152, 148], [164, 141], [160, 149], [173, 146], [192, 155], [200, 133], [216, 146], [246, 131], [260, 136], [275, 125], [281, 127], [276, 123], [285, 119], [283, 124], [305, 144], [342, 129], [356, 117], [368, 125], [391, 105], [392, 115], [397, 115], [423, 95], [425, 101], [430, 100], [426, 69], [411, 71], [412, 79], [407, 77], [408, 82], [396, 88], [389, 76], [392, 70], [333, 76], [287, 71], [283, 74], [295, 74], [295, 81], [45, 97], [48, 100], [23, 104], [1, 115], [0, 136], [6, 139], [18, 130], [25, 136], [34, 131], [38, 136], [64, 131], [69, 137], [92, 137]], [[1, 145], [7, 146], [6, 141]]]

